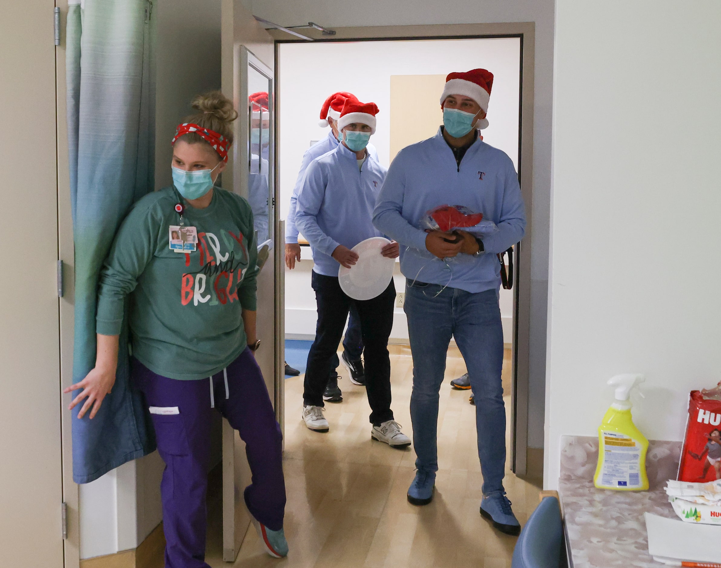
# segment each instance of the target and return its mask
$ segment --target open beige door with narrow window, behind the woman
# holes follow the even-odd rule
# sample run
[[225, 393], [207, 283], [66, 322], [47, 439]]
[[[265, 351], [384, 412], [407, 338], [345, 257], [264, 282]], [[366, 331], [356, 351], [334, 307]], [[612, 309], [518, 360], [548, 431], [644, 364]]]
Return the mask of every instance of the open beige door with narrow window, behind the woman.
[[[229, 168], [223, 174], [223, 187], [247, 198], [253, 210], [260, 267], [257, 334], [261, 345], [255, 357], [282, 425], [283, 405], [277, 401], [282, 401], [283, 343], [275, 340], [279, 306], [283, 306], [276, 251], [283, 250], [283, 233], [278, 230], [275, 215], [274, 43], [244, 9], [242, 0], [223, 0], [221, 14], [221, 88], [238, 111], [235, 141]], [[235, 560], [249, 525], [243, 502], [243, 490], [249, 483], [245, 444], [224, 420], [223, 559], [226, 562]]]

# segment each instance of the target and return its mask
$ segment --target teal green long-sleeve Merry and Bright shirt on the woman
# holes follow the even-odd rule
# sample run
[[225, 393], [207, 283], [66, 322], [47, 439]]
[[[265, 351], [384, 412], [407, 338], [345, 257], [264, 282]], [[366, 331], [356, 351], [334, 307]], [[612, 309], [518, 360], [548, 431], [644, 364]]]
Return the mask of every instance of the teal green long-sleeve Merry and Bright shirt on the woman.
[[100, 274], [97, 333], [117, 335], [125, 298], [133, 356], [162, 376], [195, 380], [229, 365], [247, 345], [242, 310], [255, 310], [257, 244], [248, 202], [213, 189], [205, 209], [185, 206], [195, 252], [169, 249], [180, 224], [172, 187], [133, 205]]

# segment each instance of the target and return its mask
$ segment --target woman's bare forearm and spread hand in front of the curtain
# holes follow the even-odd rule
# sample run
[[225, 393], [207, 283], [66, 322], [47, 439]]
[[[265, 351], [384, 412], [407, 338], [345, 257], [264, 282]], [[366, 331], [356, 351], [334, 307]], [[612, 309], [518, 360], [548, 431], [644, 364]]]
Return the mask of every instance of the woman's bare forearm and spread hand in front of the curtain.
[[78, 404], [85, 400], [85, 404], [78, 413], [78, 418], [85, 416], [90, 410], [91, 420], [97, 414], [102, 404], [102, 399], [110, 392], [115, 384], [115, 371], [118, 369], [118, 335], [101, 335], [97, 334], [97, 357], [95, 358], [95, 367], [87, 376], [74, 385], [68, 386], [63, 393], [83, 389], [83, 391], [75, 397], [70, 403], [68, 410], [74, 409]]

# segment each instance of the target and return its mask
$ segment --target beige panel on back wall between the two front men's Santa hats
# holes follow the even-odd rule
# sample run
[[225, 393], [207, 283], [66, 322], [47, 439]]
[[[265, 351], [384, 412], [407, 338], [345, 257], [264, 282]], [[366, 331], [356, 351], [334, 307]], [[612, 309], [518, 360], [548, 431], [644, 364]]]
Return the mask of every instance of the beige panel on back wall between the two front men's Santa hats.
[[445, 84], [445, 75], [391, 76], [390, 161], [406, 146], [438, 132], [443, 124], [438, 93]]

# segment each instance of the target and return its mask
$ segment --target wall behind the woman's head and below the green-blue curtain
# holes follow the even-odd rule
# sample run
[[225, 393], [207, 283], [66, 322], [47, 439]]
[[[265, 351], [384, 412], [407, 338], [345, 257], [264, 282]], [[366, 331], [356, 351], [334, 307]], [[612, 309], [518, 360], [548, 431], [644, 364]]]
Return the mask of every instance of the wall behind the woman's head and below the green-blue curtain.
[[[196, 94], [220, 88], [220, 0], [155, 0], [156, 188], [171, 183], [170, 140]], [[218, 444], [214, 444], [217, 446]], [[134, 549], [161, 522], [158, 453], [79, 486], [80, 557]]]

